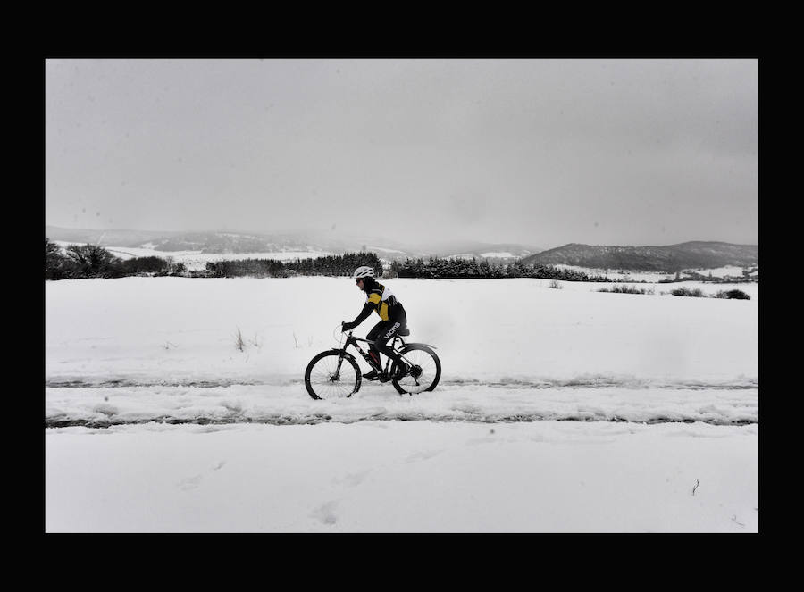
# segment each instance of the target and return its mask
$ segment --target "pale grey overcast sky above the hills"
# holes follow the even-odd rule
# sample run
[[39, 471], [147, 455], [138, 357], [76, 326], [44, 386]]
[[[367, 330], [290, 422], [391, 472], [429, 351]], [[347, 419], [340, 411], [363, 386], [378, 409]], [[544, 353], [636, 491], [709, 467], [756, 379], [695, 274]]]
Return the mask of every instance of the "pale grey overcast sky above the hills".
[[47, 225], [758, 244], [757, 60], [46, 60]]

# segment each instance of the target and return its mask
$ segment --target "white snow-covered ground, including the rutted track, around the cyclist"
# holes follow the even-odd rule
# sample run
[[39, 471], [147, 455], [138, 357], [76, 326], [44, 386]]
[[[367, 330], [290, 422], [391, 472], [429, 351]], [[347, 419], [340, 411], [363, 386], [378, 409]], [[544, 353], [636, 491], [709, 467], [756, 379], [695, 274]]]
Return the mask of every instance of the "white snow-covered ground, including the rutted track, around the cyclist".
[[758, 531], [758, 284], [387, 283], [434, 392], [307, 396], [350, 279], [46, 282], [46, 530]]

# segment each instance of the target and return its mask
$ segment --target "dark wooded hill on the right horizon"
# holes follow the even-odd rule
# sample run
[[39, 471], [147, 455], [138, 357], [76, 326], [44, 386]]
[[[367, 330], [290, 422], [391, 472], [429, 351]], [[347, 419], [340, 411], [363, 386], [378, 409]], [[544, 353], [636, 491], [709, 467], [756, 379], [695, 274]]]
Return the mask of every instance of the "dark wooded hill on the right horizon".
[[523, 258], [523, 263], [577, 265], [592, 269], [659, 271], [759, 264], [758, 245], [691, 241], [669, 246], [590, 246], [570, 243]]

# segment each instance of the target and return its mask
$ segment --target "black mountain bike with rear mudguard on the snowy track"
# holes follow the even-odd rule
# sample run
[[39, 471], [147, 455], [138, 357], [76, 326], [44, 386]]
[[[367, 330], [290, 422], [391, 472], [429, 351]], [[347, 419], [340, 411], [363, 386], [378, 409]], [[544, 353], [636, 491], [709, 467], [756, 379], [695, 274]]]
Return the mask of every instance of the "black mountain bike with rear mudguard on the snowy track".
[[[340, 330], [340, 325], [335, 329]], [[360, 390], [363, 374], [357, 365], [356, 357], [347, 351], [354, 346], [366, 363], [380, 373], [385, 372], [390, 383], [399, 395], [415, 395], [432, 391], [441, 378], [441, 362], [431, 346], [426, 343], [406, 343], [404, 337], [410, 335], [410, 329], [404, 328], [394, 336], [389, 346], [399, 354], [409, 366], [404, 375], [398, 376], [397, 362], [388, 358], [385, 368], [374, 362], [373, 358], [357, 344], [369, 339], [356, 338], [352, 331], [348, 332], [346, 342], [341, 347], [333, 347], [316, 355], [307, 364], [305, 371], [305, 387], [307, 393], [315, 400], [348, 398]], [[340, 338], [343, 337], [341, 333]], [[345, 366], [344, 363], [347, 365]], [[389, 369], [390, 366], [390, 369]]]

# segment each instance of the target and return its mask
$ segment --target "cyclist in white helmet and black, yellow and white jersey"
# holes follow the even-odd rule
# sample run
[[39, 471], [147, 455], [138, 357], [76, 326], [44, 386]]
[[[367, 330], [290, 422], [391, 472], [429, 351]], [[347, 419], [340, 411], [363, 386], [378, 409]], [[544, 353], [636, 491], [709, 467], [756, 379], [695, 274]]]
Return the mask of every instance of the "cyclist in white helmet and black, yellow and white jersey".
[[[393, 358], [397, 362], [397, 378], [402, 378], [410, 370], [410, 367], [402, 361], [393, 349], [386, 345], [390, 338], [393, 338], [399, 331], [407, 327], [407, 317], [402, 303], [398, 301], [397, 296], [394, 296], [389, 288], [374, 279], [374, 270], [368, 265], [358, 267], [352, 274], [352, 279], [355, 279], [357, 288], [365, 292], [365, 305], [355, 321], [342, 324], [342, 330], [355, 329], [372, 312], [379, 314], [382, 321], [374, 325], [373, 329], [365, 336], [366, 339], [374, 342], [369, 346], [369, 355], [372, 356], [377, 368], [380, 369], [382, 368], [380, 352], [386, 354], [389, 358]], [[364, 378], [369, 380], [379, 379], [381, 382], [387, 382], [390, 379], [388, 374], [385, 371], [377, 371], [377, 368], [365, 373]]]

